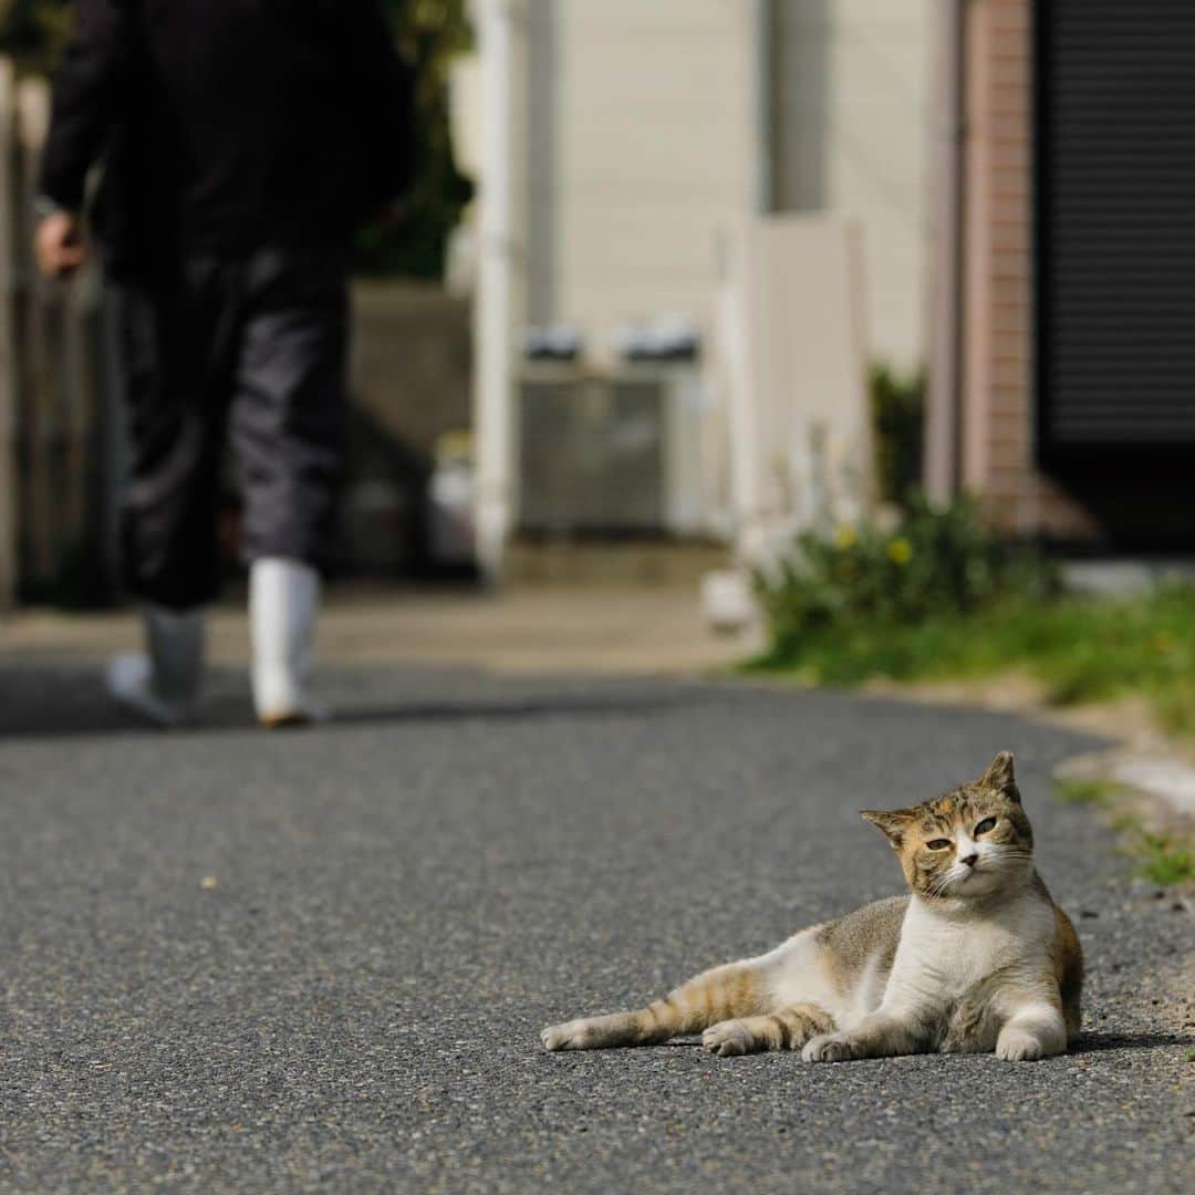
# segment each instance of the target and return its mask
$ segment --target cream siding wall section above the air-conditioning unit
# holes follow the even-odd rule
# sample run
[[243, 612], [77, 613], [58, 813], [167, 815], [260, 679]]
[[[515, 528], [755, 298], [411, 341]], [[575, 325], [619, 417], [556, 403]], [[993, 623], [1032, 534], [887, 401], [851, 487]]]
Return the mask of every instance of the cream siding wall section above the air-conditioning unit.
[[709, 324], [717, 232], [752, 208], [752, 6], [532, 0], [528, 313], [603, 338]]

